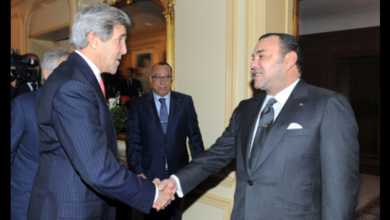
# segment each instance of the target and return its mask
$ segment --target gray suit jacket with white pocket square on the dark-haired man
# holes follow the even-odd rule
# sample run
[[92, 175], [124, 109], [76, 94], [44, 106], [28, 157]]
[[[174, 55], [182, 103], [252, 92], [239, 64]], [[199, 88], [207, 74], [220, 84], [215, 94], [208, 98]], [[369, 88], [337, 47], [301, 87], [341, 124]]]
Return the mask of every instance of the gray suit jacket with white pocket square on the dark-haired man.
[[[216, 143], [176, 173], [183, 192], [236, 158], [231, 219], [354, 219], [359, 144], [347, 98], [301, 79], [274, 121], [255, 168], [249, 170], [255, 119], [265, 96], [242, 101]], [[292, 123], [302, 129], [288, 129]]]

